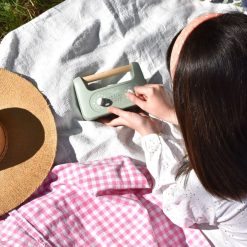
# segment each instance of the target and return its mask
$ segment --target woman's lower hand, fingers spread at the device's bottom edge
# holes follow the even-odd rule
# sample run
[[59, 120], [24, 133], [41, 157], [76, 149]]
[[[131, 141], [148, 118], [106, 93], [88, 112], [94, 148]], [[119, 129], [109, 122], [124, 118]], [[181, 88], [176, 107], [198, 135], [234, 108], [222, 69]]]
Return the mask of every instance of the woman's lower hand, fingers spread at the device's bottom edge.
[[160, 121], [152, 119], [144, 113], [124, 111], [113, 106], [110, 106], [108, 108], [108, 111], [118, 116], [117, 118], [109, 122], [107, 122], [106, 120], [101, 120], [102, 123], [108, 126], [126, 126], [136, 130], [142, 136], [153, 133], [158, 134], [160, 132]]

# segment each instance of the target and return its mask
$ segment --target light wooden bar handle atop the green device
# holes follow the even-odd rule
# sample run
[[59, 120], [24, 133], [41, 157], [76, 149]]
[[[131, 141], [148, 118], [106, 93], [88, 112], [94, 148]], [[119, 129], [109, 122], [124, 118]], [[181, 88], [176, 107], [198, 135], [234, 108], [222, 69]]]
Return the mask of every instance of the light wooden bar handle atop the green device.
[[92, 81], [97, 81], [97, 80], [100, 80], [100, 79], [106, 79], [106, 78], [108, 78], [110, 76], [126, 73], [126, 72], [128, 72], [130, 70], [131, 70], [131, 65], [129, 64], [129, 65], [121, 66], [121, 67], [114, 68], [114, 69], [111, 69], [111, 70], [108, 70], [108, 71], [100, 72], [100, 73], [97, 73], [97, 74], [94, 74], [94, 75], [84, 76], [84, 77], [82, 77], [82, 79], [85, 82], [92, 82]]

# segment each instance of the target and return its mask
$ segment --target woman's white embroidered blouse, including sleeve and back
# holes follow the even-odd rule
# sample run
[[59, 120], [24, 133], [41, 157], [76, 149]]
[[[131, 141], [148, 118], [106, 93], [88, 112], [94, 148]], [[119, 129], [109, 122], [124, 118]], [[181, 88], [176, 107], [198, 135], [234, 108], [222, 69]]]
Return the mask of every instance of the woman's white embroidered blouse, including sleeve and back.
[[[224, 246], [247, 246], [247, 198], [242, 202], [212, 196], [192, 170], [186, 187], [184, 177], [175, 180], [184, 156], [179, 130], [168, 124], [170, 134], [142, 138], [147, 167], [155, 180], [153, 193], [163, 201], [163, 211], [181, 227], [193, 224], [217, 226]], [[236, 178], [237, 182], [237, 178]]]

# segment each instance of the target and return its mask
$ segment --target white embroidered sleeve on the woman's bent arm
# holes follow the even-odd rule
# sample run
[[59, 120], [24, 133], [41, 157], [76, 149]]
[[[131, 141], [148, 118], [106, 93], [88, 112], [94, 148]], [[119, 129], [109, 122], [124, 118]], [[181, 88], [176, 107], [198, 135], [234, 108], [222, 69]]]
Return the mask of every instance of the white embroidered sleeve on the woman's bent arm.
[[162, 201], [163, 211], [180, 227], [194, 224], [214, 225], [215, 208], [212, 196], [205, 191], [192, 170], [187, 185], [185, 177], [176, 178], [184, 157], [179, 131], [169, 125], [171, 135], [151, 134], [142, 138], [147, 168], [154, 178], [153, 193]]

